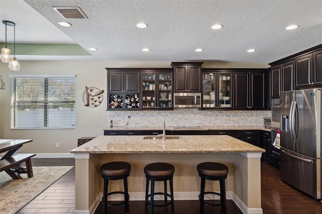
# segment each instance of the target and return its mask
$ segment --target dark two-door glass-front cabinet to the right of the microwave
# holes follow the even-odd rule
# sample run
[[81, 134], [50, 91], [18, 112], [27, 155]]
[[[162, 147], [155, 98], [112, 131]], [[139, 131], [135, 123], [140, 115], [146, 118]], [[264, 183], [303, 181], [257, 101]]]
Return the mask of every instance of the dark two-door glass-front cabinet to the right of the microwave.
[[202, 72], [202, 109], [232, 109], [232, 72], [204, 69]]

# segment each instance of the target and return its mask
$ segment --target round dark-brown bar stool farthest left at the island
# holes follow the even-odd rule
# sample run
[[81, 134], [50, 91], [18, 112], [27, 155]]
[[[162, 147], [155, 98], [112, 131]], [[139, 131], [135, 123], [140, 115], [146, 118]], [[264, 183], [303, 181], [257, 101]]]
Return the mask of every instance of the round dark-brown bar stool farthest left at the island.
[[[107, 206], [114, 206], [125, 203], [125, 212], [129, 212], [129, 194], [127, 188], [127, 177], [130, 175], [131, 165], [126, 162], [109, 162], [101, 166], [102, 178], [104, 178], [104, 194], [103, 194], [103, 213], [106, 213]], [[124, 192], [122, 191], [107, 191], [109, 180], [120, 180], [123, 179]], [[124, 194], [124, 201], [117, 203], [108, 203], [107, 197], [112, 194]]]

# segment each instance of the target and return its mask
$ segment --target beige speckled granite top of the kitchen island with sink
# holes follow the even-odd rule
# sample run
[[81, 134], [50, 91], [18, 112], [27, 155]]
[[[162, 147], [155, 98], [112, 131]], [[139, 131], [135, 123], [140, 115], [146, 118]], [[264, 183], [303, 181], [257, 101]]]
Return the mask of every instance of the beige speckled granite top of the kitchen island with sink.
[[143, 136], [99, 136], [71, 153], [248, 153], [265, 152], [227, 135], [182, 136], [182, 140], [148, 139]]

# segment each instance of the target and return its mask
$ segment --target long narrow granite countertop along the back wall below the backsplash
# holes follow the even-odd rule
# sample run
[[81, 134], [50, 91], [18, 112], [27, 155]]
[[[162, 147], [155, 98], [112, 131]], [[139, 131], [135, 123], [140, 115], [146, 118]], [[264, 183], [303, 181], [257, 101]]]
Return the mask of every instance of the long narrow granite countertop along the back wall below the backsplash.
[[[108, 127], [103, 130], [163, 130], [163, 127], [157, 126], [118, 126], [118, 127]], [[212, 127], [212, 126], [166, 126], [166, 130], [179, 131], [179, 130], [264, 130], [271, 131], [269, 128], [264, 126], [229, 126], [229, 127]]]

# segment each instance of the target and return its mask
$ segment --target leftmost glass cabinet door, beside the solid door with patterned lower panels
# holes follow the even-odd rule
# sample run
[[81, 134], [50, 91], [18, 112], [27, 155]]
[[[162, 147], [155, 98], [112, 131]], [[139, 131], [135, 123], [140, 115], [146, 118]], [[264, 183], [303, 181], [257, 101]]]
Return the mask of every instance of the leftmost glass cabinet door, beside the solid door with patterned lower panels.
[[142, 72], [142, 107], [141, 109], [156, 109], [156, 72]]

